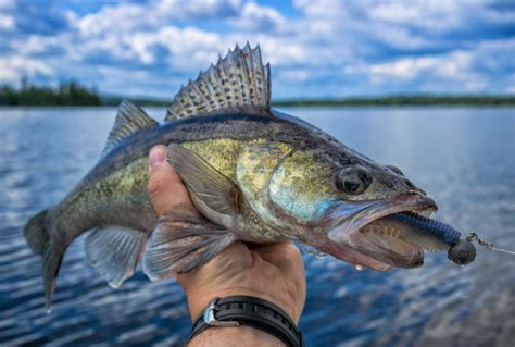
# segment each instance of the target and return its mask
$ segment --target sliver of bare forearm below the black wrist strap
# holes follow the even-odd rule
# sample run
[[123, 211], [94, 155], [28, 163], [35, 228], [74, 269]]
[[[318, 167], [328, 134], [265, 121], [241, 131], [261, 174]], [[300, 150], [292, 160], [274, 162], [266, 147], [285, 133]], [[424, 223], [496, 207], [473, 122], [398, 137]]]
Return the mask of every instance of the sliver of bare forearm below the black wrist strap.
[[277, 337], [250, 326], [209, 327], [193, 337], [188, 347], [285, 346]]

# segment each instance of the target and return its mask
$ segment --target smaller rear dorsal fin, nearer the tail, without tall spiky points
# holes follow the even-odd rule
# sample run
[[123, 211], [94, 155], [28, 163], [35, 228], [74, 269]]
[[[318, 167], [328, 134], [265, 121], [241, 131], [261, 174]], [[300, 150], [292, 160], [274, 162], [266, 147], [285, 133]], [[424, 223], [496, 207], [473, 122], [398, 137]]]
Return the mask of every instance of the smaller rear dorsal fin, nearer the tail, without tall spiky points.
[[155, 126], [158, 126], [158, 122], [145, 113], [143, 110], [127, 100], [123, 100], [102, 154], [105, 154], [130, 135]]

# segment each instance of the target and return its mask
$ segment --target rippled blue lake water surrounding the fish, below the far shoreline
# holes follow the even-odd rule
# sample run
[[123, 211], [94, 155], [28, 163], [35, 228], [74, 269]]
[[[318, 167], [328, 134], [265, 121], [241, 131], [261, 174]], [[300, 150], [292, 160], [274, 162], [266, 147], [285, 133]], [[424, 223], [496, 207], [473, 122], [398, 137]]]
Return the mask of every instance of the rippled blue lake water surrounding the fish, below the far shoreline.
[[[163, 109], [150, 108], [156, 119]], [[438, 202], [438, 219], [515, 249], [515, 109], [285, 109], [351, 148], [401, 168]], [[0, 345], [183, 345], [190, 330], [175, 281], [138, 271], [109, 287], [83, 238], [63, 262], [52, 313], [43, 310], [39, 257], [23, 238], [95, 164], [116, 110], [0, 109]], [[426, 253], [416, 270], [355, 271], [304, 256], [307, 346], [515, 345], [515, 257], [478, 249], [461, 268]]]

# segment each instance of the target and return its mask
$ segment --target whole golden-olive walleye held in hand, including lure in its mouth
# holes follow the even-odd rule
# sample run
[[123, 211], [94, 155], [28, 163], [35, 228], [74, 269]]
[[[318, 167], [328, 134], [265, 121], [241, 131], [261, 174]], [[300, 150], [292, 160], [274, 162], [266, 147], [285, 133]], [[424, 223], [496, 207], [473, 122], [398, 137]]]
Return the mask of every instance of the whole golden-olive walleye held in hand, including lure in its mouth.
[[[87, 258], [113, 287], [140, 259], [150, 280], [173, 277], [238, 239], [300, 241], [379, 271], [419, 267], [423, 248], [465, 249], [450, 257], [470, 261], [457, 232], [423, 216], [437, 205], [398, 168], [269, 101], [269, 64], [248, 44], [183, 87], [163, 124], [123, 101], [97, 165], [25, 227], [47, 305], [66, 248], [87, 231]], [[203, 218], [177, 209], [158, 220], [147, 185], [148, 152], [160, 144]]]

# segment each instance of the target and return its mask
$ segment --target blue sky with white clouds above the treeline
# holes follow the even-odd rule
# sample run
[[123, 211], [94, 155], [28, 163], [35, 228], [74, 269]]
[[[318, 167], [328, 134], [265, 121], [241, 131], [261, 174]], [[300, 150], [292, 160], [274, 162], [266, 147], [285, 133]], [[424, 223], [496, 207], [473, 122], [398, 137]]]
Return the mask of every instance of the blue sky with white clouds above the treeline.
[[276, 100], [515, 94], [515, 0], [0, 0], [0, 84], [172, 99], [247, 41]]

